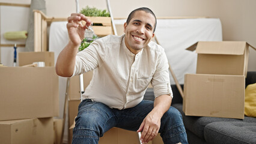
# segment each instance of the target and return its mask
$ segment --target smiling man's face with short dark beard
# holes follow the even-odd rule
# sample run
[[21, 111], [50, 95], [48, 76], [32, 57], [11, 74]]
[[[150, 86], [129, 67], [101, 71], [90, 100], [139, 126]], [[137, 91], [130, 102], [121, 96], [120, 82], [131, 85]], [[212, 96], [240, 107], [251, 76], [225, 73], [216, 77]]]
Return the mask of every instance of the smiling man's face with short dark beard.
[[154, 37], [154, 16], [145, 11], [136, 11], [129, 24], [124, 23], [124, 41], [132, 53], [138, 53]]

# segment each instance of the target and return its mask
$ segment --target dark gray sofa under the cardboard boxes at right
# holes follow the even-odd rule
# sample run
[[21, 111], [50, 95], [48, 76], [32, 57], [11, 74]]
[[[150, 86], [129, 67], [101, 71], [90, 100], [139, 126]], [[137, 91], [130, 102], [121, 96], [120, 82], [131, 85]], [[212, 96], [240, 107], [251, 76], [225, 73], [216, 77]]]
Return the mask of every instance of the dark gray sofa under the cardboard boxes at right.
[[[246, 86], [256, 83], [256, 71], [249, 71]], [[245, 119], [186, 116], [182, 110], [183, 99], [176, 85], [171, 85], [174, 98], [172, 106], [183, 116], [189, 143], [254, 143], [256, 144], [256, 118]], [[183, 88], [183, 85], [181, 85]], [[147, 89], [144, 99], [153, 100], [153, 89]]]

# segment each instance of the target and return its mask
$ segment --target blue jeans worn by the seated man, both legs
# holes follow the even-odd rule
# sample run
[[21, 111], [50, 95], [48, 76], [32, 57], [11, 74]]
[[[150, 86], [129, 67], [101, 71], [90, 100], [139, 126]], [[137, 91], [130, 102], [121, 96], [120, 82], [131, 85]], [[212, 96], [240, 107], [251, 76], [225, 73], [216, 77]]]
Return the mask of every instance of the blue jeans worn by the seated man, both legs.
[[[78, 107], [72, 143], [98, 143], [99, 137], [112, 127], [136, 131], [153, 107], [153, 101], [143, 100], [135, 107], [118, 110], [86, 99]], [[170, 107], [163, 115], [159, 133], [165, 144], [187, 143], [182, 116], [174, 107]]]

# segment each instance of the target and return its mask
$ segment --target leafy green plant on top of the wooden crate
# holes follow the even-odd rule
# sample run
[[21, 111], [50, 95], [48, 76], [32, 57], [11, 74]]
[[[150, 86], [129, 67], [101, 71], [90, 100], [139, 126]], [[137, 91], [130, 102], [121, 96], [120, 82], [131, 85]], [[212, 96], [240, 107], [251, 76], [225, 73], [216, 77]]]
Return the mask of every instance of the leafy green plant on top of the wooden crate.
[[87, 7], [82, 8], [80, 13], [84, 14], [85, 16], [110, 17], [109, 12], [107, 12], [106, 10], [99, 10], [95, 7], [90, 8], [88, 5], [87, 5]]

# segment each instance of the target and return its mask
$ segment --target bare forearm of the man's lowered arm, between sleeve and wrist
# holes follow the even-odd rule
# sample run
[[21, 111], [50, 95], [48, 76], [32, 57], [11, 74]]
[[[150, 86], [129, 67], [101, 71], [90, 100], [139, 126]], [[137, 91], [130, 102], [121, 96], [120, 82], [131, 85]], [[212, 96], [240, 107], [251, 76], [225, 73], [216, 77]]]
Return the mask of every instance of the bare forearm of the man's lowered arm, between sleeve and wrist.
[[154, 109], [152, 112], [158, 113], [160, 118], [171, 106], [172, 97], [170, 95], [160, 95], [154, 100]]

